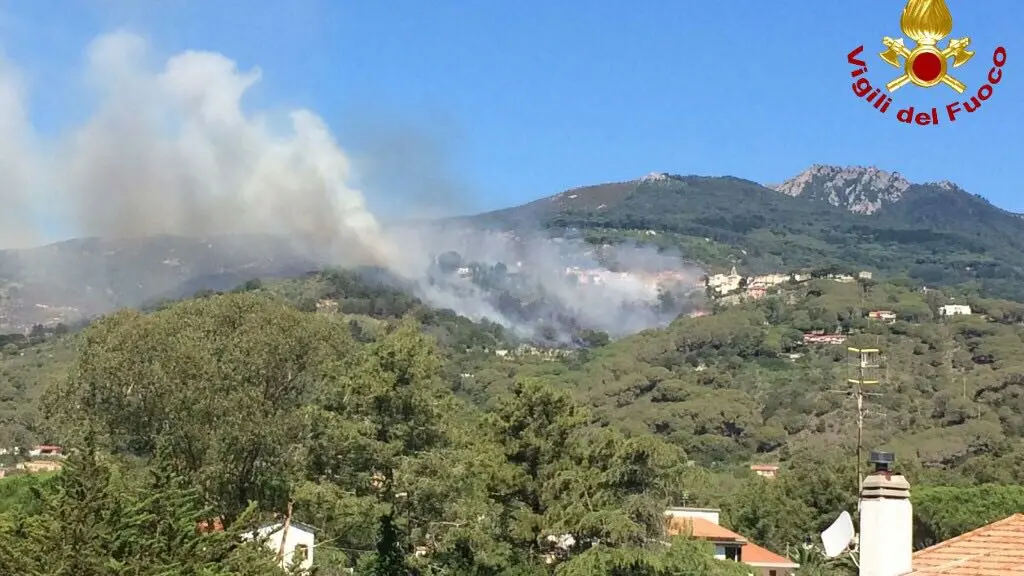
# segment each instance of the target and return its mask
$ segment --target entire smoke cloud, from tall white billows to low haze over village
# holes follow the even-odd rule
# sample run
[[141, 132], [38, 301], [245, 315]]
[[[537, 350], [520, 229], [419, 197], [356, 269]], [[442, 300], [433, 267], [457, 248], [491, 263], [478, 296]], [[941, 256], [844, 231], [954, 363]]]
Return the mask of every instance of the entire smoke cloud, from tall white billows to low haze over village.
[[[186, 51], [154, 63], [144, 39], [114, 33], [88, 46], [84, 78], [97, 101], [94, 113], [41, 146], [17, 70], [0, 57], [0, 246], [37, 243], [31, 215], [45, 209], [37, 199], [49, 198], [71, 214], [78, 236], [280, 235], [303, 254], [342, 266], [385, 268], [418, 286], [418, 295], [433, 304], [519, 331], [529, 331], [545, 315], [568, 311], [585, 327], [623, 333], [664, 323], [678, 312], [631, 306], [656, 302], [649, 284], [623, 280], [585, 289], [566, 283], [564, 243], [386, 230], [353, 188], [353, 162], [325, 122], [296, 110], [287, 129], [275, 130], [275, 118], [247, 113], [242, 100], [260, 71], [239, 70], [224, 55]], [[574, 246], [570, 255], [586, 250], [580, 242], [568, 244]], [[542, 294], [548, 307], [532, 310], [532, 319], [512, 318], [479, 286], [436, 282], [428, 272], [445, 250], [460, 250], [473, 261], [523, 262], [531, 293]], [[631, 262], [663, 258], [641, 248], [625, 250], [620, 259]], [[670, 259], [681, 266], [678, 258]], [[690, 272], [694, 279], [699, 274]]]

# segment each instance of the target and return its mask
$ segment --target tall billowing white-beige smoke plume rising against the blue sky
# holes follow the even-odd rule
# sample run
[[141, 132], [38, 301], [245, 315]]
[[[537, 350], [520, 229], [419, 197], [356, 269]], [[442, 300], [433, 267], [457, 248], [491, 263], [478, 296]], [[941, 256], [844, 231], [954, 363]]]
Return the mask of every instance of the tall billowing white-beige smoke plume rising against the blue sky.
[[80, 234], [273, 233], [386, 261], [380, 227], [348, 186], [350, 162], [316, 115], [294, 111], [291, 133], [275, 134], [242, 110], [258, 70], [211, 52], [174, 55], [158, 72], [147, 60], [126, 33], [89, 48], [100, 105], [59, 159]]

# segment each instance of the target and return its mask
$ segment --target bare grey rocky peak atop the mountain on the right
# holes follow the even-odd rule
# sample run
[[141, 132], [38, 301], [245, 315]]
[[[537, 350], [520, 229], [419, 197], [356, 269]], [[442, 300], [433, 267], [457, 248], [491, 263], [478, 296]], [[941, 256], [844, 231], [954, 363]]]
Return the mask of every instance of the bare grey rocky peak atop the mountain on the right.
[[768, 188], [786, 196], [821, 200], [857, 214], [872, 214], [887, 204], [899, 202], [910, 182], [899, 172], [874, 167], [815, 164]]

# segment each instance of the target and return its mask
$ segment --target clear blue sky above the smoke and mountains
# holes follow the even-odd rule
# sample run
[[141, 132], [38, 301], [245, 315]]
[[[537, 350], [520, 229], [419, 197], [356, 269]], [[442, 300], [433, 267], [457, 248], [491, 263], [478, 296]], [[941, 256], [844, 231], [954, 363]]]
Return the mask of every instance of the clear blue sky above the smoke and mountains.
[[[222, 52], [262, 69], [249, 106], [309, 108], [355, 154], [415, 134], [412, 163], [431, 165], [416, 169], [443, 179], [459, 211], [650, 171], [774, 182], [812, 163], [949, 179], [1024, 211], [1024, 47], [1013, 42], [1024, 3], [947, 3], [953, 36], [977, 50], [955, 71], [969, 91], [997, 45], [1009, 58], [978, 113], [930, 127], [880, 115], [850, 87], [846, 54], [859, 44], [874, 83], [898, 75], [877, 56], [883, 36], [901, 35], [892, 0], [0, 0], [0, 44], [29, 75], [47, 132], [83, 114], [62, 87], [97, 34]], [[907, 87], [894, 107], [955, 96]]]

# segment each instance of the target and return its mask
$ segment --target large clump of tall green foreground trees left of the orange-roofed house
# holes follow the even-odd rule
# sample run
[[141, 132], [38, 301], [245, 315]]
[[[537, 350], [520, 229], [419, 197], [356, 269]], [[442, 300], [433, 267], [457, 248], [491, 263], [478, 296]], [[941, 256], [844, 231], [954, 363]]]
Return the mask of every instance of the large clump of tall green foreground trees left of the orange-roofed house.
[[[545, 574], [546, 557], [560, 574], [742, 573], [702, 544], [656, 543], [684, 489], [678, 448], [595, 425], [529, 379], [479, 412], [444, 385], [415, 319], [359, 338], [353, 320], [233, 294], [90, 326], [44, 405], [54, 434], [86, 450], [5, 517], [0, 566], [263, 574], [266, 559], [227, 537], [292, 503], [331, 542], [324, 574]], [[188, 519], [212, 516], [230, 528], [203, 544]], [[154, 556], [154, 533], [204, 552]], [[564, 533], [577, 544], [547, 538]]]

